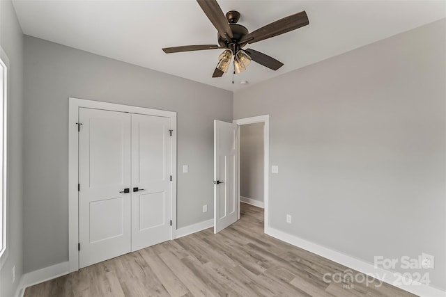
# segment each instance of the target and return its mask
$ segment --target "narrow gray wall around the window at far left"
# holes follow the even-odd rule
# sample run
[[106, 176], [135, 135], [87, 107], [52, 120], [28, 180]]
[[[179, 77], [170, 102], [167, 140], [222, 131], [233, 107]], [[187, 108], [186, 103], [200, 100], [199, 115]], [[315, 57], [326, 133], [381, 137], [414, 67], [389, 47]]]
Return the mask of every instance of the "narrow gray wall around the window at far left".
[[[13, 296], [22, 276], [23, 34], [10, 1], [0, 1], [0, 45], [10, 60], [8, 108], [8, 259], [0, 271], [0, 296]], [[15, 265], [15, 283], [12, 268]]]

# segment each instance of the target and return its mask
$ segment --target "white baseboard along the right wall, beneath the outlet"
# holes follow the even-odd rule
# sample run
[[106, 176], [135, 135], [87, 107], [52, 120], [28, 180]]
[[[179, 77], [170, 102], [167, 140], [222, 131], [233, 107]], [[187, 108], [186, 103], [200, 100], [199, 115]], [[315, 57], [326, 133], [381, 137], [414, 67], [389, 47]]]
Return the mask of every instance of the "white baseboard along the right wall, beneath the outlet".
[[401, 281], [401, 278], [397, 277], [397, 275], [395, 275], [395, 273], [392, 271], [387, 271], [383, 268], [375, 268], [374, 264], [370, 264], [368, 262], [364, 262], [363, 260], [344, 255], [343, 253], [337, 252], [336, 250], [330, 250], [329, 248], [319, 246], [316, 243], [307, 241], [305, 239], [300, 239], [297, 236], [279, 231], [272, 227], [266, 227], [265, 233], [272, 237], [285, 241], [286, 243], [290, 243], [293, 246], [308, 250], [309, 252], [313, 252], [316, 255], [330, 259], [334, 262], [347, 266], [348, 268], [352, 268], [355, 271], [374, 275], [374, 277], [378, 280], [386, 282], [387, 284], [392, 284], [392, 286], [398, 287], [399, 289], [403, 289], [404, 291], [408, 291], [412, 294], [426, 297], [446, 296], [446, 291], [433, 288], [426, 284], [421, 284], [420, 282], [415, 282], [415, 280], [408, 280], [407, 278], [403, 278], [403, 280]]

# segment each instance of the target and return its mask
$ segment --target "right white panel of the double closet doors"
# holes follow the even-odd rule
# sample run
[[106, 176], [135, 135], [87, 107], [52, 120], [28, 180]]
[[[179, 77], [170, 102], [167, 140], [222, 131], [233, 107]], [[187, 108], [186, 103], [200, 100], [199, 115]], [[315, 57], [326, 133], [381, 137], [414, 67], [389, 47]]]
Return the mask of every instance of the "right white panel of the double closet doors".
[[171, 239], [170, 118], [132, 114], [132, 251]]

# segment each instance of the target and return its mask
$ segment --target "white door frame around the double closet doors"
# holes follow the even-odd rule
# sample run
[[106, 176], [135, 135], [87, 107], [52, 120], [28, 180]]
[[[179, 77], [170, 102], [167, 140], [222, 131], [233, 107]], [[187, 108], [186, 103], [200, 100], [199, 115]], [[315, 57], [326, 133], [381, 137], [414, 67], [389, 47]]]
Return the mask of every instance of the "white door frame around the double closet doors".
[[[88, 99], [68, 99], [68, 266], [69, 272], [79, 270], [79, 134], [77, 122], [79, 109], [102, 109], [106, 111], [121, 111], [124, 113], [139, 113], [143, 115], [163, 116], [171, 119], [171, 239], [176, 238], [176, 112], [148, 109], [139, 106], [114, 104]], [[80, 127], [82, 129], [82, 126]]]

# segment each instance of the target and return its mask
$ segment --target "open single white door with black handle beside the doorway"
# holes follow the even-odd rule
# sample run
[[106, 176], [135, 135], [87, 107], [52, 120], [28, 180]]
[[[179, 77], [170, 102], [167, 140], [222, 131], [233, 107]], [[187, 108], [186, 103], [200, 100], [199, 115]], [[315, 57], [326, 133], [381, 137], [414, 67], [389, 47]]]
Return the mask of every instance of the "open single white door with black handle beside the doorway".
[[214, 120], [214, 233], [237, 220], [237, 127]]

